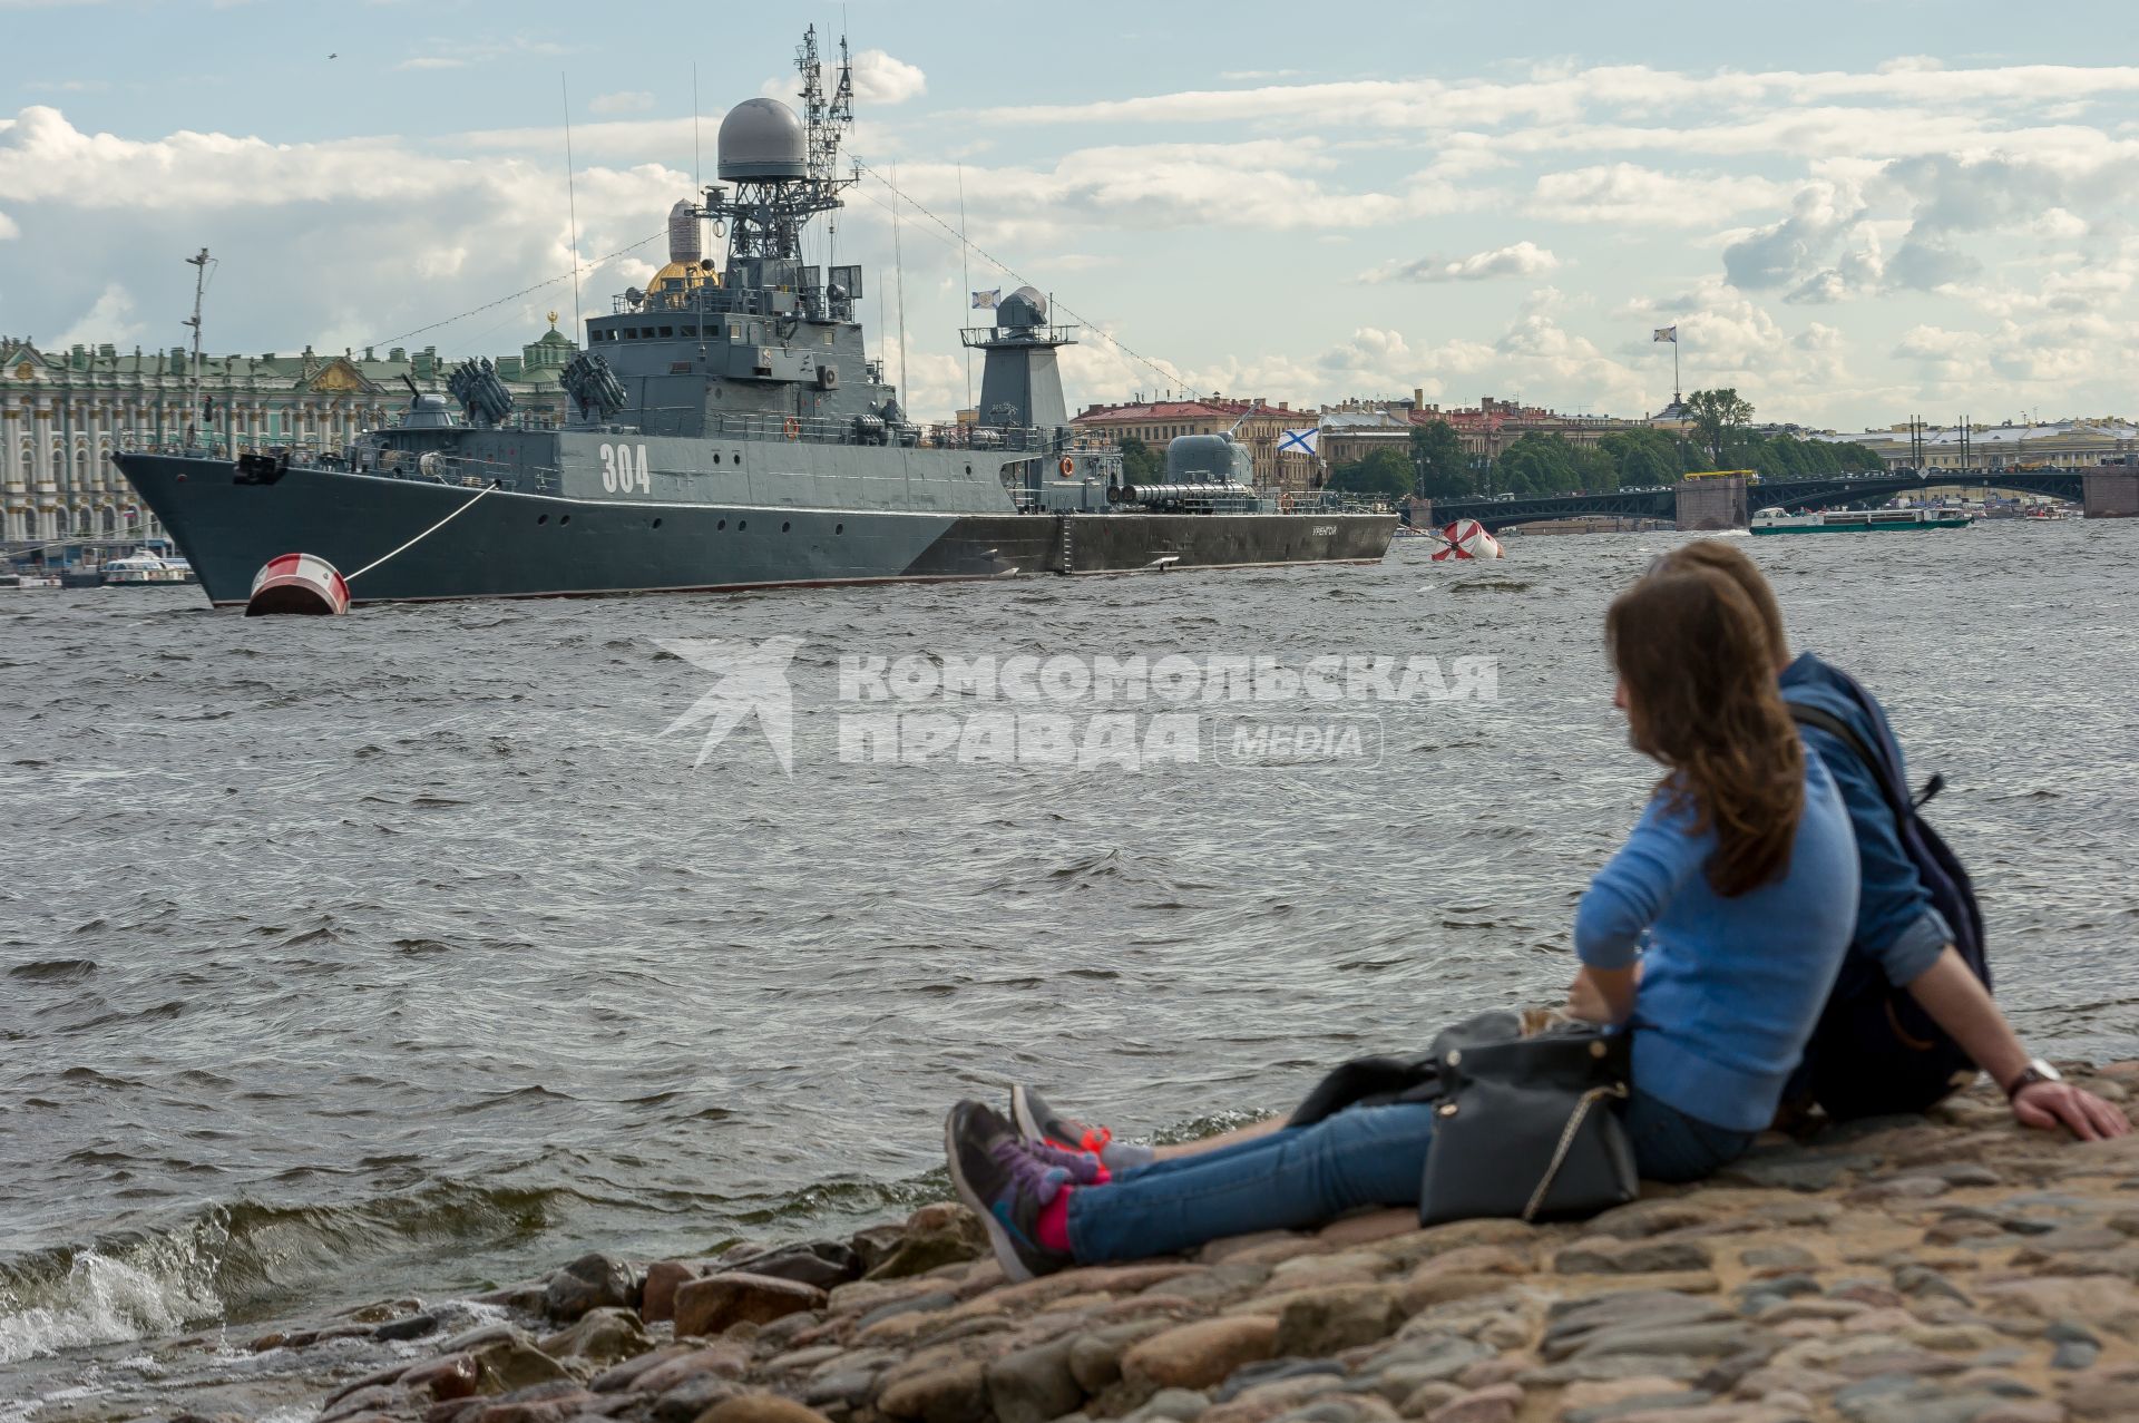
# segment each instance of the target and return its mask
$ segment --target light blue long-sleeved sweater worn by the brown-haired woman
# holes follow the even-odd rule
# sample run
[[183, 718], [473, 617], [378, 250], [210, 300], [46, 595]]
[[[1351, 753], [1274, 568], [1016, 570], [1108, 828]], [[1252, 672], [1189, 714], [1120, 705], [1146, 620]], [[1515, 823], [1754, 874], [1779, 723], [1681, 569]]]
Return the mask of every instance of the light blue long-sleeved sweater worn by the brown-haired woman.
[[1656, 798], [1574, 912], [1574, 952], [1641, 959], [1634, 1083], [1690, 1117], [1758, 1132], [1812, 1038], [1857, 924], [1857, 843], [1818, 755], [1790, 867], [1735, 899], [1709, 888], [1715, 832]]

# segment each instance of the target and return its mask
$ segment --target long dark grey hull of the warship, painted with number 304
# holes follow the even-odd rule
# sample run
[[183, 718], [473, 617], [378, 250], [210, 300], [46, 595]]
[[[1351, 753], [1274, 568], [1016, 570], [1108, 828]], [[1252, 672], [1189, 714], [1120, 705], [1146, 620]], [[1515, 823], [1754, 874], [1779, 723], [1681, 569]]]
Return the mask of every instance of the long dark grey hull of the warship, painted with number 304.
[[327, 469], [240, 484], [227, 460], [118, 464], [216, 606], [242, 606], [252, 576], [289, 552], [351, 576], [353, 603], [381, 603], [1375, 563], [1397, 524], [1392, 514], [960, 514], [515, 490], [477, 501], [473, 488]]

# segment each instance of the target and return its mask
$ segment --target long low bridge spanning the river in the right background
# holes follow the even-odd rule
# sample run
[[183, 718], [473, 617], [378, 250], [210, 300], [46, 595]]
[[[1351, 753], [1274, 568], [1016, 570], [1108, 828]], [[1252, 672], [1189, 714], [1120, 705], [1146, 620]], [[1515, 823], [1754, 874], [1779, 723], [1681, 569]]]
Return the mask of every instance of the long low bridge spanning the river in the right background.
[[1745, 484], [1743, 475], [1718, 479], [1686, 479], [1647, 490], [1613, 490], [1611, 494], [1506, 494], [1497, 499], [1435, 499], [1414, 505], [1418, 524], [1446, 524], [1474, 518], [1487, 529], [1534, 524], [1549, 518], [1585, 514], [1617, 514], [1624, 518], [1673, 520], [1679, 529], [1743, 529], [1752, 509], [1780, 505], [1784, 509], [1848, 509], [1882, 505], [1895, 494], [1923, 494], [1929, 488], [1994, 488], [2015, 494], [2038, 494], [2086, 503], [2090, 518], [2139, 514], [2139, 466], [2105, 464], [2096, 469], [1972, 469], [1972, 471], [1889, 471], [1878, 475], [1814, 475], [1803, 479], [1767, 479]]

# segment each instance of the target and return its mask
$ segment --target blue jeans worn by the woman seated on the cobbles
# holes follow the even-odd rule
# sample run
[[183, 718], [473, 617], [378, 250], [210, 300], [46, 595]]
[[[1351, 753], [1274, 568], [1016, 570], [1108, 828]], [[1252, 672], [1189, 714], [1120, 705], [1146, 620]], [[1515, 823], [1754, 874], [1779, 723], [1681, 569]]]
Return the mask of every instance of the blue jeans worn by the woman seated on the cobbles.
[[[1624, 1108], [1634, 1164], [1653, 1181], [1696, 1181], [1752, 1145], [1638, 1087]], [[1080, 1265], [1142, 1260], [1249, 1230], [1301, 1230], [1373, 1205], [1418, 1205], [1433, 1106], [1352, 1106], [1200, 1156], [1123, 1170], [1070, 1194]]]

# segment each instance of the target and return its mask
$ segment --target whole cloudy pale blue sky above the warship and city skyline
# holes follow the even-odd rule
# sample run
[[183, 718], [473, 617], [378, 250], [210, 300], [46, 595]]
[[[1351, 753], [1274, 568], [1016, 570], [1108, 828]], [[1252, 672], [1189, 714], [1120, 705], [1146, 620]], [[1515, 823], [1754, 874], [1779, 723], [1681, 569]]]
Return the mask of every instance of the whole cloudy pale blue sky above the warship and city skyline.
[[569, 278], [513, 297], [571, 272], [571, 208], [582, 259], [625, 250], [582, 274], [605, 310], [719, 116], [841, 15], [849, 156], [911, 205], [903, 280], [881, 178], [836, 253], [894, 374], [903, 287], [922, 415], [965, 402], [965, 293], [1020, 280], [1112, 338], [1072, 407], [1641, 415], [1677, 323], [1686, 385], [1773, 419], [2139, 413], [2128, 0], [0, 0], [0, 332], [178, 345], [207, 246], [216, 351], [511, 351], [571, 323]]

